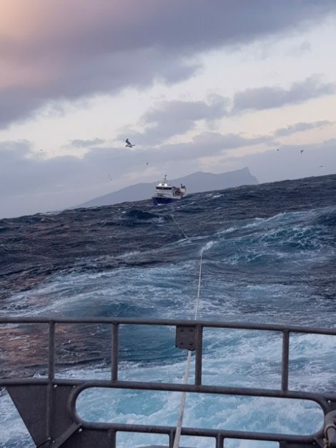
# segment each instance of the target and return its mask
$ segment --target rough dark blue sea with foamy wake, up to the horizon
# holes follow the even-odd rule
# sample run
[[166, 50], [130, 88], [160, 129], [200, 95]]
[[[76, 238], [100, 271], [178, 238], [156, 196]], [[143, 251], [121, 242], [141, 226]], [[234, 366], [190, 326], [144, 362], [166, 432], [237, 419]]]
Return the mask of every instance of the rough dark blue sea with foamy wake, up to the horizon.
[[[187, 195], [169, 206], [139, 201], [0, 220], [1, 316], [193, 319], [203, 252], [199, 319], [336, 324], [336, 175]], [[109, 377], [109, 333], [73, 326], [57, 335], [56, 374]], [[280, 387], [279, 334], [204, 335], [205, 384]], [[336, 338], [297, 334], [290, 389], [334, 392]], [[39, 329], [0, 326], [1, 377], [44, 376]], [[182, 382], [186, 354], [174, 329], [121, 334], [120, 379]], [[94, 389], [78, 412], [93, 422], [177, 421], [179, 393]], [[9, 395], [0, 391], [0, 446], [32, 448]], [[322, 412], [307, 401], [187, 395], [184, 426], [311, 434]], [[166, 444], [120, 434], [118, 448]], [[214, 441], [182, 437], [182, 446]], [[277, 447], [231, 440], [225, 447]]]

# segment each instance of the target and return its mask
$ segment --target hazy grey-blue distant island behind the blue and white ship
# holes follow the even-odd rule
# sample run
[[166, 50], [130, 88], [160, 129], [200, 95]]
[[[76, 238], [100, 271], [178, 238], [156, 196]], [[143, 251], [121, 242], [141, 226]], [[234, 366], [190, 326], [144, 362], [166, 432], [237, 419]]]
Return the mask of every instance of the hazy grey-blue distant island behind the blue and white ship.
[[[161, 179], [157, 179], [159, 181]], [[143, 199], [150, 199], [154, 193], [156, 182], [148, 184], [134, 184], [126, 186], [125, 188], [114, 191], [113, 193], [104, 194], [90, 201], [83, 202], [77, 207], [94, 207], [110, 204], [119, 204], [127, 201], [142, 201]], [[188, 176], [180, 177], [179, 179], [169, 179], [172, 185], [179, 186], [185, 184], [187, 186], [187, 194], [198, 193], [201, 191], [222, 190], [232, 186], [241, 185], [255, 185], [258, 184], [257, 178], [252, 176], [248, 168], [237, 169], [235, 171], [228, 171], [227, 173], [213, 174], [197, 171]]]

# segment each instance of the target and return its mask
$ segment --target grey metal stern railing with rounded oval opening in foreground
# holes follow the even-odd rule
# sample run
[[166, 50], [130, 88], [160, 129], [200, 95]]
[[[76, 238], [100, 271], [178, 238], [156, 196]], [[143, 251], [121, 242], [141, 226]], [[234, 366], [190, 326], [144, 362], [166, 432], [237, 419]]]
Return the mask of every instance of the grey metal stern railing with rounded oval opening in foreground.
[[[323, 334], [336, 336], [336, 329], [320, 329], [314, 327], [297, 327], [277, 324], [245, 324], [239, 322], [208, 322], [172, 319], [47, 319], [37, 317], [2, 317], [0, 324], [47, 324], [49, 327], [48, 375], [46, 378], [9, 378], [0, 379], [0, 385], [6, 387], [19, 409], [22, 419], [31, 432], [36, 446], [43, 447], [81, 447], [92, 448], [94, 444], [99, 447], [117, 447], [116, 434], [118, 432], [140, 432], [167, 434], [169, 447], [172, 447], [176, 428], [160, 425], [121, 424], [87, 422], [76, 412], [76, 400], [84, 389], [92, 387], [105, 387], [114, 389], [139, 389], [168, 392], [190, 392], [219, 395], [238, 395], [245, 397], [275, 397], [287, 399], [305, 399], [317, 403], [325, 416], [336, 409], [335, 393], [322, 394], [318, 392], [304, 392], [290, 390], [290, 337], [292, 334]], [[55, 327], [64, 324], [108, 324], [111, 327], [111, 376], [110, 379], [62, 379], [55, 378]], [[176, 347], [191, 349], [195, 352], [194, 381], [191, 384], [121, 381], [119, 376], [119, 327], [120, 325], [134, 326], [162, 326], [176, 328]], [[279, 389], [262, 389], [251, 387], [225, 387], [212, 386], [202, 383], [202, 357], [203, 357], [203, 330], [204, 329], [242, 329], [258, 330], [263, 332], [279, 332], [282, 334], [281, 358], [281, 387]], [[223, 347], [224, 348], [224, 347]], [[336, 368], [335, 368], [336, 371]], [[336, 372], [335, 372], [336, 373]], [[36, 419], [41, 419], [39, 412], [45, 411], [44, 428], [36, 430], [36, 424], [31, 415], [26, 415], [27, 400], [31, 397], [28, 390], [36, 395], [36, 388], [44, 391], [42, 399], [38, 402]], [[41, 400], [42, 400], [41, 399]], [[41, 410], [42, 409], [42, 410]], [[31, 409], [29, 408], [31, 414]], [[252, 410], [251, 410], [252, 412]], [[34, 414], [34, 412], [33, 412]], [[28, 420], [28, 421], [26, 421]], [[43, 426], [43, 425], [42, 425]], [[211, 437], [215, 440], [216, 448], [224, 447], [224, 440], [229, 439], [255, 439], [279, 442], [280, 447], [318, 447], [323, 446], [324, 428], [313, 434], [275, 434], [270, 432], [245, 432], [225, 429], [200, 429], [182, 427], [184, 436]], [[330, 447], [336, 447], [336, 431], [328, 429]], [[334, 434], [335, 433], [335, 434]], [[84, 434], [86, 437], [84, 437]], [[91, 439], [90, 439], [91, 437]], [[93, 437], [93, 439], [92, 439]], [[91, 442], [90, 442], [91, 440]], [[92, 442], [92, 440], [94, 442]], [[86, 442], [89, 441], [89, 442]], [[89, 443], [89, 444], [86, 444]], [[104, 444], [105, 443], [105, 444]]]

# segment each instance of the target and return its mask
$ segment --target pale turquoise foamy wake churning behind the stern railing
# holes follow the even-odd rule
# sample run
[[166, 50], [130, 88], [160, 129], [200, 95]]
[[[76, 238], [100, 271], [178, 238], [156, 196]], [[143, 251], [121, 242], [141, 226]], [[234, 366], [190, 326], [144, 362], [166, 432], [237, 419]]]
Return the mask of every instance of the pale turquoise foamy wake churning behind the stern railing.
[[[181, 251], [183, 254], [188, 250], [191, 255], [187, 261], [181, 257], [180, 262], [154, 267], [59, 274], [29, 292], [11, 297], [11, 303], [6, 303], [6, 309], [1, 312], [17, 314], [24, 307], [30, 315], [87, 317], [96, 315], [98, 310], [99, 315], [109, 317], [191, 319], [197, 292], [199, 253], [202, 252], [199, 318], [247, 322], [280, 322], [282, 319], [285, 323], [335, 326], [330, 313], [331, 302], [319, 296], [319, 289], [313, 287], [312, 282], [306, 282], [307, 272], [314, 272], [317, 264], [328, 262], [334, 250], [330, 242], [325, 244], [322, 227], [315, 225], [316, 216], [315, 211], [300, 211], [234, 223], [215, 235], [180, 240], [156, 252], [162, 254], [164, 260], [164, 251]], [[293, 252], [290, 244], [296, 245]], [[129, 252], [121, 257], [140, 255]], [[166, 339], [162, 344], [154, 344], [158, 339], [155, 334], [148, 332], [145, 337], [147, 347], [142, 353], [143, 346], [140, 344], [137, 348], [137, 344], [143, 342], [144, 334], [134, 330], [133, 339], [121, 334], [121, 344], [126, 340], [137, 342], [133, 344], [137, 357], [134, 361], [129, 357], [120, 363], [119, 378], [182, 382], [184, 362], [180, 361], [181, 353], [178, 349], [169, 351], [169, 347], [174, 346], [174, 329], [164, 335]], [[279, 334], [205, 330], [204, 337], [204, 384], [280, 387]], [[322, 392], [334, 390], [335, 348], [335, 337], [291, 335], [290, 387]], [[162, 352], [155, 352], [156, 349]], [[167, 350], [167, 356], [164, 350]], [[176, 357], [169, 359], [172, 354]], [[109, 374], [110, 369], [104, 363], [86, 368], [57, 369], [58, 377], [106, 379]], [[83, 416], [99, 421], [176, 423], [178, 393], [154, 392], [149, 399], [144, 397], [145, 394], [140, 397], [135, 392], [125, 395], [123, 391], [112, 393], [106, 389], [89, 391], [80, 398], [79, 411]], [[319, 429], [322, 417], [318, 407], [302, 401], [285, 404], [272, 399], [213, 399], [188, 394], [184, 424], [300, 434]], [[6, 395], [0, 399], [0, 416], [1, 421], [5, 419], [6, 422], [0, 431], [1, 443], [7, 443], [4, 447], [34, 446], [29, 445], [24, 427]], [[16, 434], [18, 437], [15, 438]], [[167, 437], [154, 434], [119, 434], [117, 440], [118, 448], [167, 444]], [[182, 437], [182, 442], [186, 446], [214, 447], [213, 441], [204, 439]], [[232, 440], [226, 442], [226, 446], [269, 448], [275, 444]]]

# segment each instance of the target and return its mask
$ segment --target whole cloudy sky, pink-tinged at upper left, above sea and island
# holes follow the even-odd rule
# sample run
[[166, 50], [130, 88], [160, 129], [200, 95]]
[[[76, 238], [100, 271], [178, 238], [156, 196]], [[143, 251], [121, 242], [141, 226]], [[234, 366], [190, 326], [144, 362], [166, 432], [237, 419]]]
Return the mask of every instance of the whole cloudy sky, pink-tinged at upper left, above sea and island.
[[0, 11], [0, 217], [164, 173], [336, 173], [335, 0], [0, 0]]

